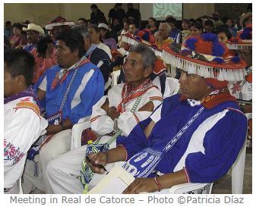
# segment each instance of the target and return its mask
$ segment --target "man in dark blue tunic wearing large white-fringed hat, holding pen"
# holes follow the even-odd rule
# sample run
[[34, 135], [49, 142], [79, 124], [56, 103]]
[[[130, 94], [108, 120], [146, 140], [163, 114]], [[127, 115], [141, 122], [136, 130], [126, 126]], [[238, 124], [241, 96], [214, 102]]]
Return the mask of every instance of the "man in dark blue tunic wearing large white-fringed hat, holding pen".
[[181, 94], [164, 99], [128, 137], [117, 139], [116, 148], [89, 155], [90, 168], [100, 174], [96, 165], [126, 161], [123, 168], [135, 180], [119, 193], [211, 183], [226, 174], [245, 142], [245, 115], [226, 87], [228, 80], [243, 79], [245, 62], [229, 60], [212, 33], [188, 38], [182, 47], [163, 46], [163, 52], [183, 70]]

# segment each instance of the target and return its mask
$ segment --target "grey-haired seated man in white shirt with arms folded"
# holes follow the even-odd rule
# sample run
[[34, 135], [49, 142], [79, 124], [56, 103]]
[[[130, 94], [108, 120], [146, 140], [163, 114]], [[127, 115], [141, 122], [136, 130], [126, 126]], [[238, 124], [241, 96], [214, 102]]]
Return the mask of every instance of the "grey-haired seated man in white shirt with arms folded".
[[[103, 96], [93, 106], [91, 128], [104, 135], [98, 143], [109, 143], [109, 148], [114, 148], [113, 131], [128, 136], [139, 121], [148, 118], [160, 105], [162, 94], [150, 80], [155, 61], [156, 55], [147, 46], [131, 47], [124, 64], [126, 83], [113, 86], [108, 97]], [[82, 146], [49, 163], [46, 168], [49, 183], [46, 193], [82, 193], [83, 185], [79, 177], [86, 150], [87, 146]]]

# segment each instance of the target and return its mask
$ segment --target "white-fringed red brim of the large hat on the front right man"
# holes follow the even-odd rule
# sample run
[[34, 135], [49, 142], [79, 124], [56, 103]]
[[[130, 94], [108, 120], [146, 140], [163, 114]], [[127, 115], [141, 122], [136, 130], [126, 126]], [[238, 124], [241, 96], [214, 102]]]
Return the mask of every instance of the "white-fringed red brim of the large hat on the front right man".
[[[240, 81], [245, 78], [246, 62], [241, 60], [239, 64], [228, 62], [218, 64], [188, 58], [172, 51], [169, 44], [163, 45], [163, 61], [178, 67], [188, 74], [198, 74], [204, 78], [213, 78], [220, 81]], [[218, 72], [218, 74], [216, 74]]]

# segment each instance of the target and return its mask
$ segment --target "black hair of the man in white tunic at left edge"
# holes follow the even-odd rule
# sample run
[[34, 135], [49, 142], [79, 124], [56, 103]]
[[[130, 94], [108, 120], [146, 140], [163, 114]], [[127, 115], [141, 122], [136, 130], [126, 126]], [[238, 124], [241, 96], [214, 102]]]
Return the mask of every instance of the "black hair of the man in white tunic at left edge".
[[24, 49], [7, 49], [4, 52], [5, 64], [11, 77], [23, 75], [27, 86], [32, 83], [35, 59]]

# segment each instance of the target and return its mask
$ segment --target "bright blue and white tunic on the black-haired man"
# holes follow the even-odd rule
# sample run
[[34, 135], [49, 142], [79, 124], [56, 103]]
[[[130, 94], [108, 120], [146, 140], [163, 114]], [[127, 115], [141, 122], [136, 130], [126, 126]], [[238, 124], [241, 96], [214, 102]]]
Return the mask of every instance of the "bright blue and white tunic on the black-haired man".
[[[40, 77], [37, 86], [46, 91], [46, 118], [57, 113], [62, 104], [68, 84], [74, 74], [74, 68], [62, 83], [52, 88], [56, 74], [62, 68], [58, 65], [49, 68], [46, 74]], [[87, 62], [78, 68], [77, 75], [68, 92], [68, 98], [62, 110], [62, 119], [69, 118], [73, 124], [77, 124], [79, 119], [91, 114], [93, 105], [103, 96], [104, 80], [100, 69], [94, 64]]]

